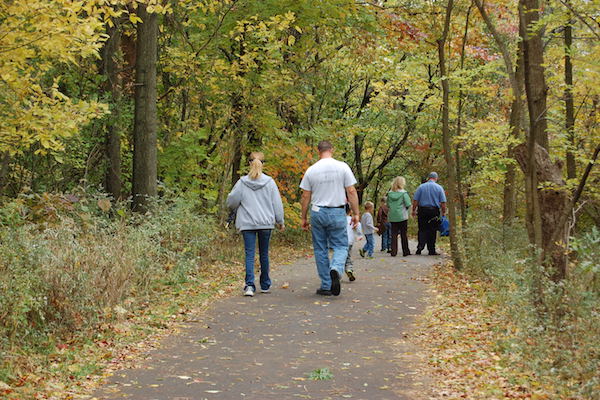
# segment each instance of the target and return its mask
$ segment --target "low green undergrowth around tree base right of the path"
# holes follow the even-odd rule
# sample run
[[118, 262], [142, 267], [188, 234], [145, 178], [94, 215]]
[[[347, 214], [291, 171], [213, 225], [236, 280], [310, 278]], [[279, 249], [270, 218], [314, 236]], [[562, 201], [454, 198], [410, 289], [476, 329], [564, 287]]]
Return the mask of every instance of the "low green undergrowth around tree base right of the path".
[[593, 398], [600, 391], [600, 232], [572, 239], [567, 279], [556, 283], [533, 261], [518, 227], [472, 219], [465, 272], [488, 281], [488, 299], [510, 319], [499, 327], [498, 351], [560, 396]]

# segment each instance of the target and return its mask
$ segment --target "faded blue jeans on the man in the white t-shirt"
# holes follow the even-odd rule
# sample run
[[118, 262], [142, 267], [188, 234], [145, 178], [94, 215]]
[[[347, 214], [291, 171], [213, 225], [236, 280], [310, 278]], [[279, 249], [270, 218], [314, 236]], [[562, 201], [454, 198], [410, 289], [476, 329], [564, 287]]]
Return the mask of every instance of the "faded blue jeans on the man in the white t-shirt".
[[[311, 209], [310, 224], [321, 289], [330, 290], [329, 271], [334, 269], [341, 277], [348, 257], [346, 211], [343, 208], [320, 208], [319, 211]], [[333, 250], [331, 260], [329, 260], [328, 244]]]

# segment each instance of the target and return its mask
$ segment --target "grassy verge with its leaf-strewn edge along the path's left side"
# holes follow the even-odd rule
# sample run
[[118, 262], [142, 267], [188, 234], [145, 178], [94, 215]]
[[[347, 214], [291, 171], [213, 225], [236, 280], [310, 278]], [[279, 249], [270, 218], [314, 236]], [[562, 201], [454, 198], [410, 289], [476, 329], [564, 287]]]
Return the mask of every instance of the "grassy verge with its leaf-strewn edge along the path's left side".
[[[73, 207], [51, 223], [14, 224], [0, 235], [7, 399], [87, 390], [243, 279], [239, 235], [185, 203], [126, 218]], [[302, 246], [290, 239], [275, 236], [274, 263], [298, 254]]]

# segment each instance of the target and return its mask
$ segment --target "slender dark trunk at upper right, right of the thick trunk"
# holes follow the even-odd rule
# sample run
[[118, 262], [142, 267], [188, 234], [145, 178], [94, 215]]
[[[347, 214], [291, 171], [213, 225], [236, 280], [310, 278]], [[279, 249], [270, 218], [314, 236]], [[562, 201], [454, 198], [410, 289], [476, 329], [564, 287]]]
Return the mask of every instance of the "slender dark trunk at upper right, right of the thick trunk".
[[[568, 1], [570, 3], [570, 1]], [[577, 167], [575, 164], [575, 106], [573, 104], [573, 62], [571, 61], [571, 46], [573, 45], [573, 25], [570, 12], [565, 25], [565, 123], [569, 148], [567, 150], [567, 178], [575, 179]]]

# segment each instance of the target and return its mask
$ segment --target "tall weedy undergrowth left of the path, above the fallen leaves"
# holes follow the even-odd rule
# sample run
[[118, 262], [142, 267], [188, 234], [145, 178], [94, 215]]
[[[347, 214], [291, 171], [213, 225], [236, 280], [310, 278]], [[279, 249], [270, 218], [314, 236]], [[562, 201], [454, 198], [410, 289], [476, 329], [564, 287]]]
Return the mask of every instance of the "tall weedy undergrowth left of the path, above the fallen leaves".
[[127, 209], [87, 194], [0, 208], [1, 348], [93, 328], [124, 300], [185, 282], [218, 234], [184, 200]]

